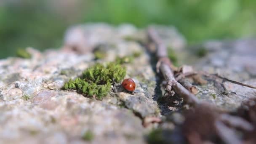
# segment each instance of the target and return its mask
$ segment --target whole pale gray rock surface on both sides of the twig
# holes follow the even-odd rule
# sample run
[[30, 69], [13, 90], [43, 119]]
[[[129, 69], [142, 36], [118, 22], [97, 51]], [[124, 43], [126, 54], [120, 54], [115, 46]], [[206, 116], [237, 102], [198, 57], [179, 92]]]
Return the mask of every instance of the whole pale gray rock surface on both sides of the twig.
[[[175, 28], [157, 26], [156, 29], [164, 42], [177, 52], [180, 64], [189, 63], [197, 70], [217, 72], [256, 85], [255, 41], [204, 43], [209, 52], [197, 58], [184, 49], [186, 41]], [[80, 39], [83, 41], [76, 42]], [[93, 144], [146, 143], [144, 135], [149, 129], [143, 127], [143, 118], [163, 117], [182, 107], [182, 100], [174, 99], [176, 96], [159, 102], [164, 94], [163, 85], [155, 72], [156, 61], [144, 47], [146, 41], [145, 30], [129, 24], [119, 27], [86, 24], [70, 29], [60, 50], [41, 53], [27, 48], [31, 59], [0, 60], [0, 143], [78, 144], [87, 142], [83, 139], [87, 131], [94, 135]], [[106, 57], [94, 60], [91, 49], [99, 45]], [[136, 82], [133, 94], [123, 91], [120, 83], [113, 85], [113, 90], [102, 100], [61, 90], [66, 81], [81, 75], [89, 66], [134, 52], [142, 54], [125, 64], [125, 78], [131, 77]], [[207, 84], [195, 85], [199, 91], [196, 96], [223, 109], [233, 111], [242, 101], [256, 97], [256, 91], [251, 88], [205, 80]], [[179, 123], [182, 117], [175, 112], [173, 120]]]

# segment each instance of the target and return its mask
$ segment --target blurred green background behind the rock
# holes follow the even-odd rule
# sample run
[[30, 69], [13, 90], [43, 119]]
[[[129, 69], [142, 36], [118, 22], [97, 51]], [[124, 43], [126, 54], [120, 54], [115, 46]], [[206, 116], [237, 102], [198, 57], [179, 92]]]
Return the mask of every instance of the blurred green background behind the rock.
[[85, 22], [174, 25], [189, 44], [256, 36], [256, 0], [0, 0], [0, 58], [61, 46]]

